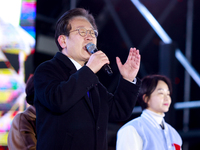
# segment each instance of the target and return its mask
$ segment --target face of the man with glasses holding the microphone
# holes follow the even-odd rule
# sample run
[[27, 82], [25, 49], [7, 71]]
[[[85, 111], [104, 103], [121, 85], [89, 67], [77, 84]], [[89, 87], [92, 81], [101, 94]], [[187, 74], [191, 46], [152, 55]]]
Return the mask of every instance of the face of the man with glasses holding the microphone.
[[89, 52], [87, 52], [85, 46], [90, 42], [96, 45], [97, 38], [92, 37], [89, 32], [85, 37], [83, 37], [79, 34], [78, 30], [76, 30], [82, 27], [86, 30], [93, 29], [92, 25], [86, 18], [75, 17], [69, 23], [71, 24], [72, 28], [70, 30], [69, 37], [66, 36], [66, 48], [64, 48], [62, 52], [83, 66], [91, 55]]

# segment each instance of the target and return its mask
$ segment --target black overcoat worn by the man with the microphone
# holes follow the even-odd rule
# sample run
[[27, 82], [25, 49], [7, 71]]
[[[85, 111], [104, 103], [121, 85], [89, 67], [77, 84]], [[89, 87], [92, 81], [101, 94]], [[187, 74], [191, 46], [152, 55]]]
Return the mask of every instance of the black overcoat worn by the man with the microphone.
[[108, 121], [130, 117], [141, 81], [120, 77], [111, 94], [87, 66], [77, 71], [57, 52], [37, 67], [34, 84], [38, 150], [106, 150]]

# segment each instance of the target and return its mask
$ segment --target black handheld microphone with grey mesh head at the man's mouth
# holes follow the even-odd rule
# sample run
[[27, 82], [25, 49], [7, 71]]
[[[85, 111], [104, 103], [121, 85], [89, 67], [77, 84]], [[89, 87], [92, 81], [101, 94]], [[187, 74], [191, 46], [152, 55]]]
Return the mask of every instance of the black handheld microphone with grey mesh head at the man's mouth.
[[[98, 49], [96, 48], [96, 45], [94, 45], [93, 43], [88, 43], [86, 45], [86, 49], [91, 54], [93, 54], [93, 53], [98, 51]], [[103, 66], [103, 69], [109, 76], [111, 76], [113, 74], [112, 69], [110, 68], [110, 66], [108, 64], [105, 64]]]

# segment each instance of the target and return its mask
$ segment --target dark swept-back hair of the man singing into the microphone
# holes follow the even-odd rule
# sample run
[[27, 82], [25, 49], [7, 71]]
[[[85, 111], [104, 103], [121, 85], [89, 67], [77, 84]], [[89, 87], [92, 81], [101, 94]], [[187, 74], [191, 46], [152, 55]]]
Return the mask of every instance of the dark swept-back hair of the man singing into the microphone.
[[60, 35], [66, 35], [69, 36], [69, 31], [71, 30], [71, 25], [69, 24], [69, 21], [73, 19], [74, 17], [85, 17], [93, 26], [95, 30], [97, 30], [97, 26], [94, 20], [94, 17], [92, 14], [89, 14], [89, 11], [83, 9], [83, 8], [75, 8], [72, 10], [69, 10], [65, 12], [57, 21], [56, 27], [55, 27], [55, 42], [59, 48], [59, 51], [62, 51], [62, 47], [58, 43], [58, 37]]

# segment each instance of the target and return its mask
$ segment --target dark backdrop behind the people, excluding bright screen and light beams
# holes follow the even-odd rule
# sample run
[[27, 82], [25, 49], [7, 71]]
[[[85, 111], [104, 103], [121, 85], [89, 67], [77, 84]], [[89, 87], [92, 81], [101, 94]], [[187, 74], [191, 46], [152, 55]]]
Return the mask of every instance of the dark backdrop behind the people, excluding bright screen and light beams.
[[[140, 2], [173, 40], [172, 45], [163, 46], [160, 37], [131, 0], [37, 0], [36, 51], [33, 68], [51, 59], [58, 51], [54, 42], [57, 19], [74, 7], [88, 9], [94, 15], [99, 30], [97, 47], [106, 53], [114, 72], [113, 76], [109, 77], [100, 71], [98, 73], [100, 81], [113, 92], [119, 78], [115, 57], [119, 56], [124, 62], [130, 47], [138, 48], [142, 58], [138, 77], [161, 73], [171, 79], [173, 102], [165, 120], [181, 134], [184, 142], [183, 150], [200, 149], [200, 109], [177, 110], [174, 107], [177, 102], [200, 100], [198, 84], [191, 77], [186, 77], [188, 75], [184, 67], [174, 55], [175, 48], [179, 48], [185, 56], [189, 51], [187, 58], [200, 73], [200, 1], [140, 0]], [[166, 57], [161, 57], [163, 55]], [[166, 64], [168, 66], [163, 67]], [[134, 112], [130, 119], [139, 115], [140, 111]], [[117, 130], [127, 121], [109, 124], [109, 150], [115, 149]]]

